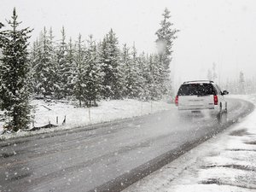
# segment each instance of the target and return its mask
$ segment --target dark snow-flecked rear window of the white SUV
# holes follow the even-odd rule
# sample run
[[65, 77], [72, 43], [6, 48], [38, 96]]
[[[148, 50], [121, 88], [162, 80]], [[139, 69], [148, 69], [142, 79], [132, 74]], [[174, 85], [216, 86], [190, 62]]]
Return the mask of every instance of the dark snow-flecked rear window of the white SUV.
[[215, 95], [212, 84], [182, 84], [177, 91], [177, 96], [208, 96]]

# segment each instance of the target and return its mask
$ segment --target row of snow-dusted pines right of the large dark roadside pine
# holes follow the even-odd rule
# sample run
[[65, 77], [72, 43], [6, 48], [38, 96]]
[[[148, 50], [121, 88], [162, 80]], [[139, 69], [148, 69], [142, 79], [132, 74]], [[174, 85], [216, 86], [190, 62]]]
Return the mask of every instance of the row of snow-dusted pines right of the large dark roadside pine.
[[30, 55], [33, 92], [56, 99], [73, 96], [79, 106], [87, 107], [99, 99], [158, 100], [170, 94], [172, 40], [177, 30], [168, 21], [167, 9], [163, 16], [156, 32], [160, 51], [149, 55], [139, 54], [135, 45], [120, 47], [113, 29], [96, 42], [92, 35], [67, 41], [64, 27], [61, 39], [55, 39], [44, 27]]

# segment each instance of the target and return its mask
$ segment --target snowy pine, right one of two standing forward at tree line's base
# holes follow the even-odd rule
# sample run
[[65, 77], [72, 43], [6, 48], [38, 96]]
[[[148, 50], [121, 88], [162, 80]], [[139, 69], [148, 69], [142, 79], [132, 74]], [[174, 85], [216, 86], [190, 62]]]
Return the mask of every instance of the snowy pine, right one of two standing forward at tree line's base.
[[86, 98], [86, 106], [90, 108], [92, 105], [96, 106], [96, 101], [100, 98], [102, 73], [97, 61], [96, 43], [92, 35], [89, 36], [87, 43], [84, 65], [84, 97]]

